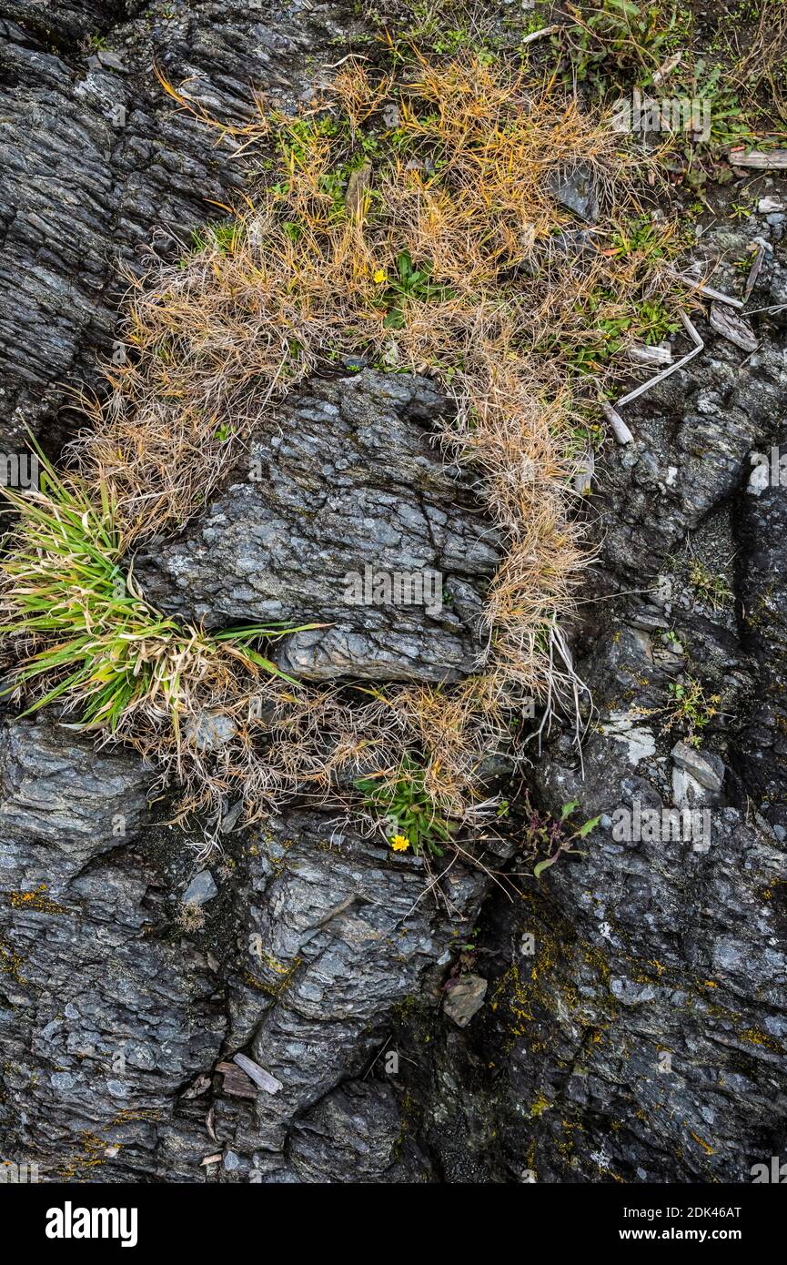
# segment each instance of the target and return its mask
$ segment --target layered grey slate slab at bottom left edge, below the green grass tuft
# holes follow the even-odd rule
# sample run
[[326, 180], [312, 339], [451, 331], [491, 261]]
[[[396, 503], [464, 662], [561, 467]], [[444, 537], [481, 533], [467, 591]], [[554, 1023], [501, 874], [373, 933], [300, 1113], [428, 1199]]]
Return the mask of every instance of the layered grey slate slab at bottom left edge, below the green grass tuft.
[[194, 1179], [205, 1154], [173, 1108], [226, 1022], [202, 955], [163, 934], [162, 878], [138, 846], [149, 781], [62, 727], [3, 731], [0, 1154], [42, 1182], [159, 1164]]

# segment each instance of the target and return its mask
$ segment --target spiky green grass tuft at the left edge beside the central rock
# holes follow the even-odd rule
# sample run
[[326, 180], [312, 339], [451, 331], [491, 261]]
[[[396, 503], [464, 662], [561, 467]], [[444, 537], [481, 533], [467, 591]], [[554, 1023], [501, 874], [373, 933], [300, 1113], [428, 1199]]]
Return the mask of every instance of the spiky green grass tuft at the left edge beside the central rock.
[[259, 624], [206, 634], [162, 615], [124, 569], [106, 491], [96, 505], [39, 459], [40, 490], [5, 490], [20, 521], [1, 564], [0, 636], [22, 643], [23, 657], [4, 693], [32, 688], [25, 715], [66, 696], [80, 710], [80, 726], [114, 732], [142, 708], [167, 712], [177, 734], [191, 686], [226, 655], [297, 686], [253, 648], [294, 629]]

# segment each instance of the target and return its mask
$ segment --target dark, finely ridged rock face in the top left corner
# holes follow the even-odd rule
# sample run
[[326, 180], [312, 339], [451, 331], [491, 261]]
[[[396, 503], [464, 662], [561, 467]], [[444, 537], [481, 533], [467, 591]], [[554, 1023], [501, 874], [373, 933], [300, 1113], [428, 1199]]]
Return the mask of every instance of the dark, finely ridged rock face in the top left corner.
[[[333, 4], [232, 0], [172, 15], [129, 6], [120, 22], [124, 10], [109, 4], [19, 0], [5, 11], [0, 371], [5, 450], [24, 450], [23, 424], [51, 419], [56, 439], [63, 383], [94, 379], [96, 350], [113, 354], [118, 257], [142, 268], [154, 229], [171, 249], [172, 234], [187, 240], [210, 218], [208, 200], [228, 202], [242, 182], [229, 149], [173, 109], [153, 63], [176, 83], [189, 78], [218, 116], [248, 119], [252, 83], [288, 108], [311, 96], [354, 19]], [[94, 56], [96, 37], [108, 47]]]

